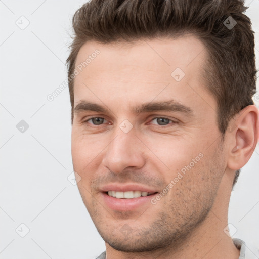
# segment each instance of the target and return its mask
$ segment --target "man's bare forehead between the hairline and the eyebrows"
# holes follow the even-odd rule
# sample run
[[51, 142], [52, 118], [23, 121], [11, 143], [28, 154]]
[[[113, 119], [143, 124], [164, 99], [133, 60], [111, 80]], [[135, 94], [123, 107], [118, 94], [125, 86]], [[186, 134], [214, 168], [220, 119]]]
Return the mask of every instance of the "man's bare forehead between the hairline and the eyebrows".
[[131, 43], [89, 41], [75, 63], [74, 102], [99, 99], [100, 103], [101, 97], [106, 101], [117, 97], [124, 104], [141, 103], [168, 95], [181, 103], [186, 98], [199, 99], [208, 95], [202, 86], [206, 57], [205, 46], [193, 35]]

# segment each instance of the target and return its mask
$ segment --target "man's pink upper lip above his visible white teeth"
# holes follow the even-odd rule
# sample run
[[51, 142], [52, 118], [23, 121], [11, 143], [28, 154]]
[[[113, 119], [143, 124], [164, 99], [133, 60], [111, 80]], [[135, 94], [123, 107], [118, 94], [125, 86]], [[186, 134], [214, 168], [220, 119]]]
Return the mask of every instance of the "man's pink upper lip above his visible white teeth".
[[100, 188], [103, 192], [116, 191], [116, 192], [127, 192], [127, 191], [141, 191], [148, 193], [155, 193], [157, 190], [151, 189], [150, 187], [139, 185], [139, 184], [119, 184], [112, 183], [104, 185]]

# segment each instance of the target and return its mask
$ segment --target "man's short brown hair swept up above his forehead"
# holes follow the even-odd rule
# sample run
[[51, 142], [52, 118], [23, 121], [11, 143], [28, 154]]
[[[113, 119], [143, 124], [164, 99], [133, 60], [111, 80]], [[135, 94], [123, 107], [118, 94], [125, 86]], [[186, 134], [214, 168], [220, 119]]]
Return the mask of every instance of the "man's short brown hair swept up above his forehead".
[[[85, 42], [154, 39], [191, 33], [206, 46], [207, 90], [217, 100], [220, 132], [256, 92], [254, 32], [241, 0], [92, 0], [73, 16], [74, 39], [67, 59], [72, 122], [75, 61]], [[230, 20], [231, 19], [231, 20]], [[232, 22], [233, 28], [227, 26]], [[237, 180], [239, 171], [236, 172]]]

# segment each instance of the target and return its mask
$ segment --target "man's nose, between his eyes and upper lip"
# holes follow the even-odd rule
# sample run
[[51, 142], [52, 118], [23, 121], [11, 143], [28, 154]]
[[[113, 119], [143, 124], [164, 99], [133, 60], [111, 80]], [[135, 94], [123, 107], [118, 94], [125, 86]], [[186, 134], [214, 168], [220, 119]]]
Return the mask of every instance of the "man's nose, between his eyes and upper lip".
[[114, 173], [119, 174], [127, 167], [139, 169], [144, 166], [143, 145], [135, 136], [134, 130], [124, 133], [118, 128], [115, 138], [106, 149], [103, 164]]

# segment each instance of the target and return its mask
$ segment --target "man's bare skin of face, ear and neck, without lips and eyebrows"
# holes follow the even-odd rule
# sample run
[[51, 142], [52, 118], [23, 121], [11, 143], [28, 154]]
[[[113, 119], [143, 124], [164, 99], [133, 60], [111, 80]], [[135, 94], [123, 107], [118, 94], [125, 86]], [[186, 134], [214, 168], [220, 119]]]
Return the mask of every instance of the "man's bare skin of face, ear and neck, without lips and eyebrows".
[[[90, 41], [81, 47], [76, 66], [96, 49], [100, 54], [75, 77], [75, 106], [91, 101], [109, 112], [74, 112], [72, 160], [107, 258], [237, 259], [239, 250], [223, 230], [235, 170], [247, 163], [258, 141], [257, 108], [250, 105], [237, 114], [230, 122], [234, 130], [222, 138], [217, 103], [202, 77], [207, 52], [192, 35], [132, 44]], [[171, 76], [177, 67], [185, 73], [180, 81]], [[192, 115], [132, 111], [171, 99]], [[95, 125], [92, 116], [104, 120]], [[169, 120], [161, 124], [161, 117]], [[125, 119], [133, 126], [128, 133], [119, 127]], [[100, 188], [110, 182], [141, 183], [160, 193], [200, 153], [203, 157], [156, 204], [117, 211], [102, 199]]]

